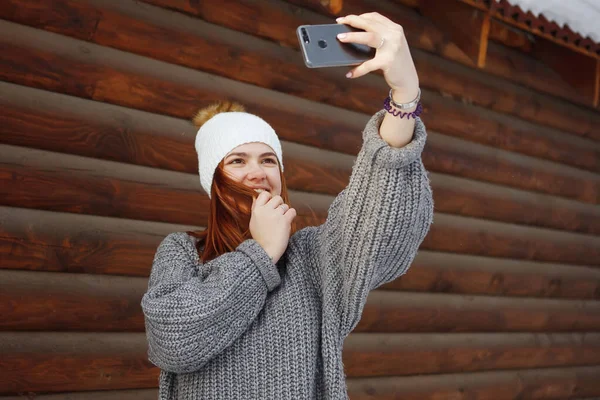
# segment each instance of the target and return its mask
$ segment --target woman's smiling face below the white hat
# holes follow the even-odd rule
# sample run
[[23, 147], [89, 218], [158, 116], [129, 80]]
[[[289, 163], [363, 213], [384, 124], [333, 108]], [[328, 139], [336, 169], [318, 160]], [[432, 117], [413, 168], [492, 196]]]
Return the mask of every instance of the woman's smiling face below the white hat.
[[279, 162], [271, 147], [264, 143], [246, 143], [231, 150], [223, 159], [223, 169], [234, 181], [257, 192], [281, 195]]

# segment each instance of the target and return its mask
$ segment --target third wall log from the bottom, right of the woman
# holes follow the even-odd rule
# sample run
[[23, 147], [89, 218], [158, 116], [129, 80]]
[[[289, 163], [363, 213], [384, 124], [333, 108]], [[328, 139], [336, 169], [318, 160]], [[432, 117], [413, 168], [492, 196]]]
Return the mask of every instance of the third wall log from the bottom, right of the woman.
[[594, 301], [375, 291], [355, 331], [586, 332], [598, 326]]

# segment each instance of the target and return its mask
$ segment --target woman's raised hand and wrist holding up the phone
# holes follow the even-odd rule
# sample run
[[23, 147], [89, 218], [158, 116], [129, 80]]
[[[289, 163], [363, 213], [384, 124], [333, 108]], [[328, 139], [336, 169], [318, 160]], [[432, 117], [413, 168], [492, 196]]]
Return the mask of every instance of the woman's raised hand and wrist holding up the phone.
[[411, 101], [419, 90], [419, 77], [402, 26], [378, 13], [348, 15], [336, 21], [365, 31], [340, 34], [339, 41], [366, 44], [377, 49], [373, 59], [357, 66], [346, 76], [358, 78], [380, 69], [387, 84], [394, 90], [394, 99]]

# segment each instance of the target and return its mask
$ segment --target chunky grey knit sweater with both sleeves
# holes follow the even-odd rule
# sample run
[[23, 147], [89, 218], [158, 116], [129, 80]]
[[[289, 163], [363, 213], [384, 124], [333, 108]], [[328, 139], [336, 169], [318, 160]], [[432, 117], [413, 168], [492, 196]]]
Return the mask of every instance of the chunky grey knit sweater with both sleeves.
[[342, 345], [370, 290], [404, 274], [433, 217], [426, 132], [394, 149], [363, 132], [350, 183], [327, 221], [296, 232], [277, 265], [254, 240], [201, 264], [195, 239], [167, 236], [142, 299], [159, 397], [347, 399]]

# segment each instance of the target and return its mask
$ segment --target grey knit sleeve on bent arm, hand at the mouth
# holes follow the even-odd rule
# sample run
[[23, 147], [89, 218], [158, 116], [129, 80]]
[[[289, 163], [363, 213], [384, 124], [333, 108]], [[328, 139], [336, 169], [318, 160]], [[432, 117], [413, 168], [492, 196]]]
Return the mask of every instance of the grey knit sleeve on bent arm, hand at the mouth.
[[254, 240], [201, 265], [187, 234], [170, 234], [142, 298], [149, 360], [175, 373], [202, 368], [246, 331], [280, 282]]

